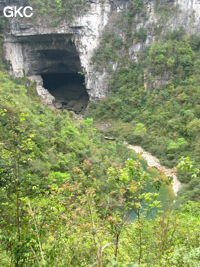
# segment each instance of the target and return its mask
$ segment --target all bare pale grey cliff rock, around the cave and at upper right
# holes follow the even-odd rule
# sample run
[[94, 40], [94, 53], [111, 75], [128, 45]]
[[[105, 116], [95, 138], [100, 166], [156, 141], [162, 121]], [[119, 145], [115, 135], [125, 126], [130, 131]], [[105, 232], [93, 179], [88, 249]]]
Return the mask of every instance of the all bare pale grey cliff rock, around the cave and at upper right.
[[[83, 73], [84, 86], [90, 100], [105, 97], [109, 74], [105, 69], [95, 71], [91, 58], [98, 47], [101, 35], [113, 17], [127, 9], [129, 0], [90, 0], [87, 12], [75, 16], [69, 22], [63, 19], [52, 26], [43, 18], [33, 21], [28, 18], [10, 19], [10, 32], [4, 48], [5, 57], [11, 63], [11, 72], [16, 77], [24, 75], [37, 82], [37, 92], [44, 103], [53, 105], [55, 97], [43, 87], [41, 76], [51, 73]], [[196, 33], [200, 27], [200, 0], [143, 0], [146, 15], [136, 14], [137, 22], [132, 31], [147, 29], [144, 42], [135, 42], [129, 47], [129, 55], [137, 59], [137, 53], [156, 38], [156, 29], [162, 31], [185, 28]], [[0, 1], [1, 6], [5, 1]], [[9, 4], [18, 3], [10, 0]], [[168, 10], [166, 18], [163, 12]], [[163, 19], [165, 18], [165, 20]], [[110, 27], [112, 31], [112, 27]], [[116, 30], [123, 38], [123, 31]], [[113, 64], [113, 69], [116, 66]], [[162, 81], [161, 81], [162, 83]], [[82, 86], [82, 85], [81, 85]], [[86, 95], [86, 94], [85, 94]], [[73, 101], [75, 99], [71, 99]], [[58, 105], [58, 103], [57, 103]]]

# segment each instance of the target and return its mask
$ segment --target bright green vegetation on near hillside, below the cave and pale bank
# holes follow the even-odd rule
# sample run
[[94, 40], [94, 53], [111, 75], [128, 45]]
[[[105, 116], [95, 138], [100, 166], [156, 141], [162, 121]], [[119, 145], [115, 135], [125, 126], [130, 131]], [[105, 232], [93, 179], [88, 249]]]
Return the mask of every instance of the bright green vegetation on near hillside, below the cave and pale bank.
[[0, 82], [1, 265], [196, 266], [198, 204], [166, 215], [161, 174], [28, 80]]

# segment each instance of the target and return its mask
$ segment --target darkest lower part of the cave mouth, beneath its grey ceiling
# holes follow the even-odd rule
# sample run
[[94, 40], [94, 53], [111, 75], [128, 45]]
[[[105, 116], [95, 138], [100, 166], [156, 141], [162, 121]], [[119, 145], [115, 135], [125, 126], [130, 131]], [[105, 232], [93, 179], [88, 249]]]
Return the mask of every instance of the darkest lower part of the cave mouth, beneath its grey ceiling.
[[43, 86], [55, 97], [56, 107], [82, 113], [89, 101], [85, 77], [79, 73], [43, 73]]

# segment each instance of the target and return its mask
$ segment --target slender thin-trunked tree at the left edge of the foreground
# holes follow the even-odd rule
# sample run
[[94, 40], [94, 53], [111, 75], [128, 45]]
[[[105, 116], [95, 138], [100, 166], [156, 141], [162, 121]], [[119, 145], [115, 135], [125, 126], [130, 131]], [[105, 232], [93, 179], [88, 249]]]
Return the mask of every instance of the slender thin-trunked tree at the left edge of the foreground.
[[[16, 267], [21, 266], [23, 255], [23, 207], [21, 198], [26, 186], [27, 166], [34, 158], [34, 134], [28, 129], [27, 114], [14, 114], [1, 106], [0, 110], [0, 224], [4, 244], [10, 250]], [[17, 235], [15, 235], [17, 233]]]

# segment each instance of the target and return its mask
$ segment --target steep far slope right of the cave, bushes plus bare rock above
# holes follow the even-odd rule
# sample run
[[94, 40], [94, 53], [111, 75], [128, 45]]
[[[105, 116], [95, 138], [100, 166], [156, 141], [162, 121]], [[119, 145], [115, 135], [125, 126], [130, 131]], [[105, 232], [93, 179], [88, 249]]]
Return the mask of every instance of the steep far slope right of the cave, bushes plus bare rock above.
[[[199, 13], [190, 20], [194, 2], [186, 2], [152, 1], [149, 9], [132, 1], [108, 25], [93, 63], [109, 73], [109, 93], [87, 115], [108, 121], [111, 135], [142, 145], [164, 165], [190, 157], [198, 168]], [[183, 196], [198, 200], [199, 176], [180, 171], [179, 179], [187, 184]]]

